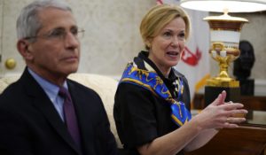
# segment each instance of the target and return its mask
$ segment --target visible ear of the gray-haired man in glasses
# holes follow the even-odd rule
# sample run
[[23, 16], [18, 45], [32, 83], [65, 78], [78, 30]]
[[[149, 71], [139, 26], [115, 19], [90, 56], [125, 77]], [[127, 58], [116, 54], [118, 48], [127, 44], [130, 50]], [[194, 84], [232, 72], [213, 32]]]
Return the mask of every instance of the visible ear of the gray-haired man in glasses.
[[30, 50], [30, 43], [26, 40], [20, 39], [17, 43], [17, 49], [25, 60], [31, 60], [33, 58], [33, 53]]

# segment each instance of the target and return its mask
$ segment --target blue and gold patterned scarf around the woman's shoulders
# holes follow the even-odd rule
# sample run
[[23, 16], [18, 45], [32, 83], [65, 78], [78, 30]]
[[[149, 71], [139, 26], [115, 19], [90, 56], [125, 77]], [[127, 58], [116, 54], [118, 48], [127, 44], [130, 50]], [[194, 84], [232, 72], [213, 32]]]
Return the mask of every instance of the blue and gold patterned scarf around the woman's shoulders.
[[177, 85], [180, 87], [178, 90], [178, 97], [176, 99], [172, 97], [167, 86], [155, 71], [139, 69], [133, 62], [126, 66], [126, 69], [121, 77], [120, 83], [121, 82], [136, 84], [150, 90], [155, 96], [162, 97], [166, 100], [171, 106], [171, 118], [178, 127], [183, 126], [185, 122], [192, 119], [191, 112], [188, 111], [184, 103], [178, 99], [183, 93], [183, 81], [181, 79], [176, 81]]

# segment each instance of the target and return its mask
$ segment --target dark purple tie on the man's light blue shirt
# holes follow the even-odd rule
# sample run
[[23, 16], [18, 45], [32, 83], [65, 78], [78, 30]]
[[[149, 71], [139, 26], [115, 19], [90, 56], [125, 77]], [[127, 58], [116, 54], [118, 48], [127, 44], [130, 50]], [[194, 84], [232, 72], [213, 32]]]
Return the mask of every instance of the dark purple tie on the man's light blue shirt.
[[67, 89], [61, 87], [59, 89], [59, 96], [64, 98], [63, 111], [68, 132], [74, 139], [74, 142], [80, 147], [81, 146], [80, 132], [77, 124], [76, 115], [74, 112], [74, 105], [72, 103], [70, 94], [67, 91]]

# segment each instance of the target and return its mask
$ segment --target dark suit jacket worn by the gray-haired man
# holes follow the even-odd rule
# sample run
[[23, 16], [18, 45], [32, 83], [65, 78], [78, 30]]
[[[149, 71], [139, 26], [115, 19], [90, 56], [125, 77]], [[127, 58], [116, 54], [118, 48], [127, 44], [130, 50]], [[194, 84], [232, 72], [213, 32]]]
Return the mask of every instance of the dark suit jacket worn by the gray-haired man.
[[67, 80], [82, 136], [80, 151], [41, 86], [24, 71], [0, 95], [0, 154], [113, 155], [116, 143], [98, 94]]

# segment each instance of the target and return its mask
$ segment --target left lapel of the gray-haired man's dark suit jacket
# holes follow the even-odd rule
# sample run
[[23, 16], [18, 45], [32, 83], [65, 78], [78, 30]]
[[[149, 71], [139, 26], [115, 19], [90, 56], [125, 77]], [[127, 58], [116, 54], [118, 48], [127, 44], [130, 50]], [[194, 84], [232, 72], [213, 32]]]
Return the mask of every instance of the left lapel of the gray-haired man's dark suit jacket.
[[43, 112], [44, 117], [51, 124], [51, 127], [55, 129], [66, 143], [68, 143], [75, 151], [80, 152], [74, 144], [74, 140], [68, 133], [65, 123], [61, 120], [59, 113], [52, 105], [51, 100], [47, 97], [44, 90], [35, 81], [32, 75], [28, 73], [27, 69], [24, 71], [20, 79], [25, 84], [26, 93], [32, 98], [33, 106], [35, 106], [40, 112]]

